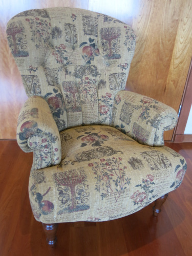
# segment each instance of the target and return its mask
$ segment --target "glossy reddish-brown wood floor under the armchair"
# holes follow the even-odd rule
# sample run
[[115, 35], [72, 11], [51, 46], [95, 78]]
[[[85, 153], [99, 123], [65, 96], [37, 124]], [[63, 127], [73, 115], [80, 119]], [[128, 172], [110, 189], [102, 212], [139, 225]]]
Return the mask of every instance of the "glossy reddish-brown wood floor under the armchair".
[[16, 141], [0, 141], [1, 256], [191, 256], [192, 143], [166, 145], [185, 157], [182, 185], [169, 194], [159, 217], [149, 205], [133, 215], [109, 222], [59, 225], [55, 249], [46, 244], [41, 223], [32, 216], [28, 180], [32, 154]]

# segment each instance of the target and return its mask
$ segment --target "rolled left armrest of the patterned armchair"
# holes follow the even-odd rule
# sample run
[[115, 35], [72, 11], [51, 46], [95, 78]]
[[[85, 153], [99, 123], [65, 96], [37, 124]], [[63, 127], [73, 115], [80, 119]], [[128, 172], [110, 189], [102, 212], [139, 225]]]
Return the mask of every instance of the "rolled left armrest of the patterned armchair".
[[48, 103], [40, 96], [28, 98], [19, 113], [17, 143], [24, 152], [34, 152], [34, 169], [61, 161], [59, 131]]

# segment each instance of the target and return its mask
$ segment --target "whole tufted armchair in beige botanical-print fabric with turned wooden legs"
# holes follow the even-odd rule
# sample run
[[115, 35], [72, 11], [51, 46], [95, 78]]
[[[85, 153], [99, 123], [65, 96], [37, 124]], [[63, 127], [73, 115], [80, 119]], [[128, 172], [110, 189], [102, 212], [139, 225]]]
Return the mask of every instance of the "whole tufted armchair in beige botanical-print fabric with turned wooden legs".
[[29, 198], [47, 241], [60, 222], [109, 221], [180, 186], [186, 162], [164, 146], [177, 113], [124, 91], [134, 31], [88, 10], [29, 10], [8, 23], [9, 47], [28, 95], [17, 142], [33, 152]]

